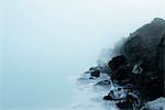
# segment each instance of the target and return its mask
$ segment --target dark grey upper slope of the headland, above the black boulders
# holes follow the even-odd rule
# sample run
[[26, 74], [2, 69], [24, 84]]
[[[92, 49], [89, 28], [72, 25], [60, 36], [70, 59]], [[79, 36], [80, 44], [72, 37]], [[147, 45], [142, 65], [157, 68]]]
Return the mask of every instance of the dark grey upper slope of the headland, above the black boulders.
[[162, 55], [165, 55], [164, 37], [165, 21], [154, 19], [128, 37], [121, 47], [121, 54], [128, 57], [131, 64], [142, 62], [145, 72], [157, 70], [158, 64], [160, 67], [163, 67], [161, 58], [163, 58]]

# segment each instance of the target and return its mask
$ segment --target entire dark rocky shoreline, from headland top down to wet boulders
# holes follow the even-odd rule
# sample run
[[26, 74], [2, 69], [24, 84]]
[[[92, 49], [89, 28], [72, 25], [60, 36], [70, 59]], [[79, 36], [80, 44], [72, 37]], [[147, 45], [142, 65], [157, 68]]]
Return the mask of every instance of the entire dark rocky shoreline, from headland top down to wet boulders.
[[[156, 18], [140, 28], [113, 53], [113, 58], [85, 73], [91, 80], [101, 74], [110, 76], [95, 85], [114, 85], [103, 100], [114, 101], [121, 110], [155, 110], [146, 103], [158, 98], [165, 103], [165, 20]], [[164, 105], [156, 107], [164, 109]]]

